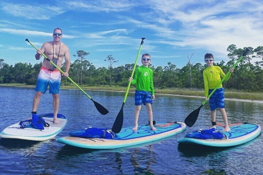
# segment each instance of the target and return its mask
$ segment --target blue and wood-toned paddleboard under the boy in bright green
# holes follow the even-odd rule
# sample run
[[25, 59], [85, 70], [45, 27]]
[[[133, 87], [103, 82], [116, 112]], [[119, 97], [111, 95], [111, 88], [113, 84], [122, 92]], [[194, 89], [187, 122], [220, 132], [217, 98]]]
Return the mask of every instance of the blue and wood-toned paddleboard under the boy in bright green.
[[62, 137], [56, 141], [66, 145], [88, 148], [88, 149], [113, 149], [120, 147], [128, 147], [141, 143], [155, 141], [166, 138], [185, 130], [185, 123], [181, 122], [163, 122], [154, 125], [156, 131], [151, 130], [149, 125], [139, 125], [136, 131], [132, 127], [123, 128], [115, 138], [80, 138], [80, 137]]

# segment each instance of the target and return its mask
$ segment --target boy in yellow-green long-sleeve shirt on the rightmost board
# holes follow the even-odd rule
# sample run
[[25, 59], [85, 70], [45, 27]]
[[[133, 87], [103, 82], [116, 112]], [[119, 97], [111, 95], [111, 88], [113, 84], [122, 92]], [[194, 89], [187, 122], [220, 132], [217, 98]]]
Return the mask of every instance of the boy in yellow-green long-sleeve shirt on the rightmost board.
[[[225, 97], [222, 84], [219, 85], [218, 89], [216, 89], [216, 91], [211, 95], [210, 98], [207, 98], [208, 94], [210, 94], [221, 81], [221, 77], [225, 77], [225, 73], [219, 66], [213, 65], [215, 60], [212, 54], [207, 53], [204, 58], [204, 61], [207, 65], [207, 68], [203, 71], [205, 98], [207, 101], [209, 100], [209, 105], [211, 108], [212, 128], [216, 128], [216, 108], [218, 108], [221, 112], [221, 115], [223, 116], [223, 120], [225, 123], [225, 128], [223, 129], [223, 131], [230, 131], [227, 115], [225, 112]], [[229, 80], [230, 75], [234, 71], [234, 69], [230, 68], [229, 71], [229, 76], [225, 78], [226, 81]]]

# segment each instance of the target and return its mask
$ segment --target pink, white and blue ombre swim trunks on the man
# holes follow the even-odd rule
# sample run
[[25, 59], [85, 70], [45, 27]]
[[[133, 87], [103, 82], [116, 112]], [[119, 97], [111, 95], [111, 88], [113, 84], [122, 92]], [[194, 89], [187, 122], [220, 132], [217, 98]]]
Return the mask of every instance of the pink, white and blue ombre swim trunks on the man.
[[35, 91], [46, 93], [49, 85], [49, 94], [59, 94], [61, 73], [59, 70], [49, 70], [46, 67], [41, 67], [38, 74], [38, 81]]

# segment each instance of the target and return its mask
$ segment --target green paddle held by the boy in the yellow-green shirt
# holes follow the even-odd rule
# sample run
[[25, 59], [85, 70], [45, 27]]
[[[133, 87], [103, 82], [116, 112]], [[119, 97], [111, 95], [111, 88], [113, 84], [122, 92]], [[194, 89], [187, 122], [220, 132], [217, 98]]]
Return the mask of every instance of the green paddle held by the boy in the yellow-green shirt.
[[[237, 60], [236, 63], [234, 63], [233, 65], [233, 69], [236, 67], [236, 65], [243, 59], [243, 57], [247, 54], [247, 52], [249, 51], [248, 48], [246, 48], [246, 50], [244, 51], [243, 55], [241, 57], [239, 57], [239, 59]], [[218, 83], [218, 85], [216, 85], [216, 88], [208, 95], [207, 98], [210, 98], [211, 95], [216, 91], [216, 89], [219, 87], [219, 85], [225, 80], [226, 77], [228, 77], [230, 74], [230, 71], [227, 72], [227, 74], [225, 75], [225, 77], [222, 78], [222, 80]], [[200, 109], [203, 107], [203, 105], [206, 103], [207, 101], [203, 101], [203, 103], [201, 104], [200, 107], [198, 107], [196, 110], [194, 110], [193, 112], [191, 112], [186, 118], [185, 118], [185, 124], [189, 127], [192, 127], [194, 125], [194, 123], [196, 122], [198, 115], [199, 115], [199, 111]]]

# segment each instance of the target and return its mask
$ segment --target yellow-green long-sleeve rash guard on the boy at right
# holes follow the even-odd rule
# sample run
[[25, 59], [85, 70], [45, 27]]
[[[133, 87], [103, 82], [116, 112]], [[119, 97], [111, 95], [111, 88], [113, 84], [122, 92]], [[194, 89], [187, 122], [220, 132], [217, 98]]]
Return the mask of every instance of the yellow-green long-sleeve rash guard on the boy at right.
[[[219, 66], [207, 67], [203, 71], [204, 77], [204, 88], [205, 88], [205, 97], [208, 96], [209, 89], [215, 89], [218, 83], [221, 81], [221, 77], [225, 77], [225, 81], [229, 80], [231, 73], [228, 77], [225, 77], [225, 73]], [[223, 87], [222, 83], [218, 88]]]

